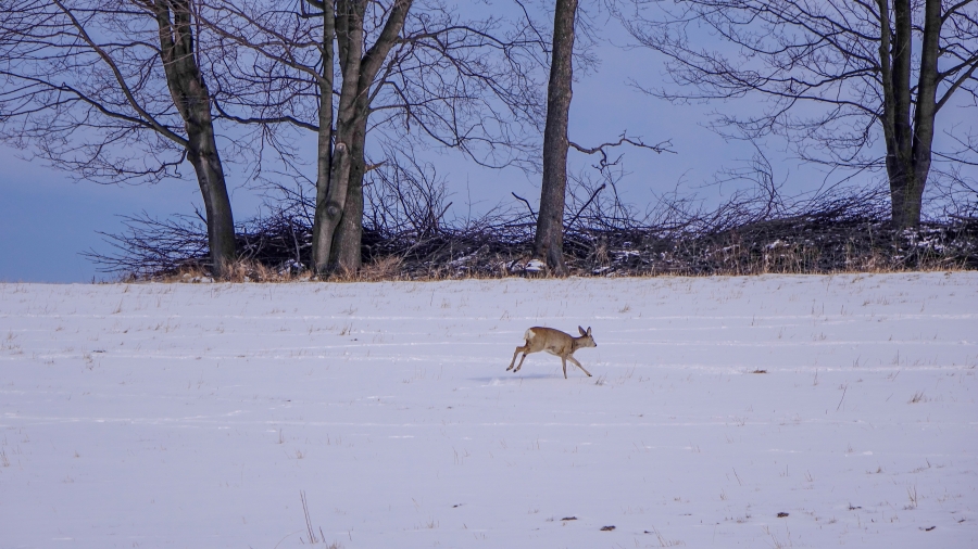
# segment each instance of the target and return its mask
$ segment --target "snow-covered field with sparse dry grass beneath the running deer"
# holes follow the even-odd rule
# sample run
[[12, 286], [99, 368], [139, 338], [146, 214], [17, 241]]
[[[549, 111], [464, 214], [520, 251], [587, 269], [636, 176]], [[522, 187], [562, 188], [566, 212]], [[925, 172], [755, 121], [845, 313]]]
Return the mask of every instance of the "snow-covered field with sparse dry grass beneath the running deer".
[[0, 548], [976, 547], [976, 366], [975, 272], [0, 284]]

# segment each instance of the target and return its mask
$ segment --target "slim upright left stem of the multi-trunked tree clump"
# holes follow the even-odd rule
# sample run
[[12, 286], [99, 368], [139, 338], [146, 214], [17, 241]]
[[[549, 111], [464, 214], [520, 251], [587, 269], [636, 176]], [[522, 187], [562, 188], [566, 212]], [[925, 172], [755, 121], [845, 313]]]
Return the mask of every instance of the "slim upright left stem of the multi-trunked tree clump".
[[[333, 168], [333, 71], [335, 66], [333, 40], [336, 36], [336, 5], [323, 2], [323, 73], [319, 77], [319, 129], [316, 143], [316, 212], [314, 219], [325, 220], [326, 195]], [[312, 242], [312, 270], [326, 272], [329, 263], [329, 240], [324, 234], [327, 224], [316, 222]]]

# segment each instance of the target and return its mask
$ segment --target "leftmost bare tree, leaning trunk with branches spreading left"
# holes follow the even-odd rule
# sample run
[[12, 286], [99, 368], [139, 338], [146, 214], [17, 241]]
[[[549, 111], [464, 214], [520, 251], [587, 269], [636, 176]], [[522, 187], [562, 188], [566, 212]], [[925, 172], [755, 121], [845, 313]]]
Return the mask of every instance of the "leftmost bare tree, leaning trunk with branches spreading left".
[[0, 137], [79, 179], [158, 181], [193, 167], [215, 274], [234, 218], [189, 0], [0, 4]]

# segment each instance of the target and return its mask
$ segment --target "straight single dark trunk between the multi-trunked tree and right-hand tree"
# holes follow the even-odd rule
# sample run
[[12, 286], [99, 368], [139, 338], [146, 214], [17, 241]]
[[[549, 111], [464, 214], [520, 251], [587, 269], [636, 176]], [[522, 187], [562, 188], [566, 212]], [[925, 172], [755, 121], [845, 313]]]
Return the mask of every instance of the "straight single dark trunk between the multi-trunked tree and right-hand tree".
[[564, 202], [576, 16], [577, 0], [556, 0], [553, 54], [547, 88], [547, 126], [543, 130], [543, 181], [534, 240], [534, 257], [546, 261], [550, 271], [559, 277], [567, 274], [567, 266], [564, 264]]

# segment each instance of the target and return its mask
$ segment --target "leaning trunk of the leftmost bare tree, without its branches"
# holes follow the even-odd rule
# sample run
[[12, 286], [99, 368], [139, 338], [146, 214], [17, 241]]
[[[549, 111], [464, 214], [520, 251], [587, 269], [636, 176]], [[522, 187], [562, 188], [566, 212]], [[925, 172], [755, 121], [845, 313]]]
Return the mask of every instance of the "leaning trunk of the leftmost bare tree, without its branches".
[[187, 130], [187, 159], [197, 174], [208, 217], [208, 245], [215, 277], [223, 278], [235, 260], [235, 221], [214, 124], [211, 94], [193, 44], [189, 0], [156, 0], [160, 47], [166, 85]]

